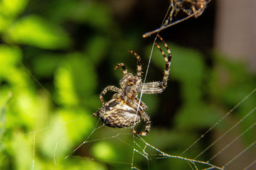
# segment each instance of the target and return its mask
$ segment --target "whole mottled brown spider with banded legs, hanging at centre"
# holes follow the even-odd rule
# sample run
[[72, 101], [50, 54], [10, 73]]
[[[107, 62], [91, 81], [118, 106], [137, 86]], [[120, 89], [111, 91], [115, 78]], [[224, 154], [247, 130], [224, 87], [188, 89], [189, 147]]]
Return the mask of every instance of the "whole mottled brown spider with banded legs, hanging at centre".
[[[171, 64], [171, 50], [164, 42], [160, 35], [158, 38], [164, 43], [166, 50], [168, 52], [168, 57], [164, 54], [161, 47], [154, 43], [156, 47], [160, 50], [161, 54], [164, 56], [166, 62], [166, 69], [164, 70], [164, 77], [162, 81], [154, 81], [150, 83], [142, 83], [142, 62], [141, 58], [137, 53], [130, 51], [135, 57], [137, 57], [137, 75], [128, 73], [124, 66], [124, 63], [117, 64], [117, 67], [122, 67], [122, 72], [124, 77], [119, 81], [121, 88], [116, 86], [107, 86], [100, 94], [100, 101], [102, 102], [102, 108], [92, 115], [95, 117], [100, 116], [102, 123], [110, 126], [112, 128], [132, 128], [132, 132], [137, 135], [146, 136], [149, 133], [151, 121], [149, 115], [144, 111], [148, 110], [145, 103], [139, 100], [138, 94], [159, 94], [167, 86], [167, 80], [169, 77], [169, 67]], [[105, 103], [103, 101], [103, 96], [107, 91], [114, 91], [115, 94], [112, 99]], [[134, 126], [140, 122], [141, 118], [146, 121], [146, 128], [144, 132], [137, 132], [134, 130]]]

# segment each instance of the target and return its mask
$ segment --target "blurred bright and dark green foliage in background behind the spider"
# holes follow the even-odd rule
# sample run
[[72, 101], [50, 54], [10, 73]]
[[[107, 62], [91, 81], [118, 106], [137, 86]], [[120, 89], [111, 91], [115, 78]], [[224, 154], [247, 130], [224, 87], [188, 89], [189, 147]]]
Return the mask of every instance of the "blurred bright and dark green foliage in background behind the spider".
[[[95, 142], [85, 143], [75, 153], [73, 150], [96, 128], [97, 118], [91, 115], [101, 107], [100, 91], [117, 85], [122, 77], [119, 70], [114, 72], [115, 64], [124, 62], [130, 71], [135, 69], [131, 67], [136, 60], [127, 50], [139, 49], [142, 33], [122, 33], [102, 2], [34, 3], [0, 1], [0, 35], [6, 43], [0, 46], [0, 169], [129, 169], [133, 149], [140, 149], [134, 146], [130, 130], [101, 128], [90, 138]], [[40, 5], [42, 11], [38, 10]], [[222, 69], [205, 64], [200, 52], [168, 44], [174, 55], [169, 87], [164, 92], [165, 102], [161, 102], [161, 95], [143, 96], [153, 121], [144, 139], [178, 155], [196, 140], [198, 132], [228, 111], [226, 106], [233, 107], [246, 96], [255, 79], [244, 65], [214, 54], [213, 63], [228, 74], [222, 81]], [[146, 62], [150, 48], [151, 42], [140, 49]], [[161, 79], [161, 58], [155, 50], [151, 67], [156, 69], [149, 69], [149, 79]], [[171, 85], [174, 82], [178, 88]], [[169, 89], [178, 91], [178, 96], [173, 97]], [[252, 108], [252, 97], [235, 116], [242, 118]], [[171, 125], [154, 125], [161, 106], [174, 100], [179, 100], [176, 113], [166, 111]], [[252, 122], [248, 121], [245, 124]], [[115, 137], [120, 132], [123, 135]], [[200, 146], [194, 148], [195, 152], [201, 150]], [[154, 149], [147, 152], [155, 154]], [[149, 162], [152, 169], [188, 169], [181, 160], [158, 161]], [[132, 163], [147, 169], [146, 159], [136, 152]]]

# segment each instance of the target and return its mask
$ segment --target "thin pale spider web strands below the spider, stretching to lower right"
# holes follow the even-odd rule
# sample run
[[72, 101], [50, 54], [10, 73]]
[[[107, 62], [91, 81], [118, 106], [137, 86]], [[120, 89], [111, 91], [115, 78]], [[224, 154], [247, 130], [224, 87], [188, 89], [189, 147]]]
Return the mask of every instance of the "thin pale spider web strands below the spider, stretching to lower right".
[[[226, 113], [223, 118], [221, 118], [220, 120], [218, 120], [218, 122], [216, 122], [210, 129], [208, 129], [206, 132], [204, 132], [200, 137], [198, 137], [198, 139], [193, 142], [189, 147], [187, 147], [179, 156], [178, 155], [171, 155], [171, 154], [167, 154], [166, 152], [161, 151], [160, 149], [154, 147], [153, 145], [150, 145], [148, 142], [146, 142], [146, 140], [144, 140], [141, 136], [139, 135], [134, 135], [131, 134], [129, 132], [124, 133], [124, 132], [119, 132], [118, 130], [114, 130], [112, 128], [107, 128], [104, 125], [100, 125], [97, 126], [97, 124], [100, 122], [100, 119], [97, 121], [97, 124], [95, 125], [94, 130], [92, 130], [92, 132], [90, 133], [90, 135], [87, 136], [86, 140], [84, 142], [82, 142], [81, 145], [79, 145], [76, 149], [74, 149], [73, 152], [76, 152], [80, 147], [82, 147], [82, 145], [87, 145], [90, 142], [97, 142], [97, 141], [102, 141], [102, 140], [118, 140], [119, 142], [123, 142], [124, 145], [127, 145], [127, 147], [131, 147], [131, 149], [133, 150], [132, 153], [132, 162], [115, 162], [115, 161], [110, 161], [110, 160], [101, 160], [101, 159], [93, 159], [90, 157], [78, 157], [78, 156], [73, 156], [73, 154], [68, 154], [65, 159], [70, 159], [70, 158], [77, 158], [77, 159], [90, 159], [92, 161], [98, 161], [98, 162], [107, 162], [107, 164], [130, 164], [131, 165], [131, 169], [140, 169], [139, 167], [137, 167], [136, 165], [134, 165], [134, 157], [136, 157], [136, 154], [138, 154], [141, 157], [144, 157], [144, 159], [146, 159], [147, 162], [150, 162], [153, 159], [181, 159], [184, 161], [184, 164], [188, 163], [189, 166], [191, 167], [191, 169], [225, 169], [229, 164], [232, 164], [233, 162], [236, 161], [236, 159], [239, 159], [239, 157], [242, 154], [245, 154], [245, 152], [248, 152], [250, 149], [252, 149], [252, 147], [255, 146], [256, 141], [253, 141], [250, 143], [250, 145], [247, 145], [244, 149], [242, 149], [240, 152], [238, 152], [238, 154], [233, 155], [228, 162], [225, 162], [225, 164], [222, 164], [221, 166], [215, 166], [214, 164], [210, 164], [210, 162], [212, 162], [213, 159], [215, 159], [215, 157], [218, 157], [219, 154], [223, 154], [223, 152], [225, 152], [225, 149], [228, 149], [229, 147], [233, 146], [233, 143], [237, 142], [238, 140], [241, 139], [241, 137], [243, 135], [245, 135], [247, 132], [249, 132], [250, 130], [252, 130], [253, 128], [255, 128], [256, 122], [252, 123], [252, 125], [250, 125], [249, 127], [247, 127], [243, 132], [241, 132], [238, 136], [234, 137], [232, 140], [230, 140], [230, 142], [228, 142], [227, 145], [225, 145], [224, 147], [222, 147], [218, 152], [216, 152], [215, 154], [213, 154], [213, 156], [210, 157], [210, 159], [206, 160], [206, 161], [200, 161], [198, 160], [198, 157], [200, 157], [203, 154], [206, 154], [206, 152], [208, 152], [208, 150], [210, 149], [210, 147], [213, 147], [217, 142], [222, 142], [223, 138], [228, 135], [230, 132], [232, 132], [232, 130], [234, 130], [236, 127], [238, 127], [238, 125], [240, 125], [240, 123], [242, 123], [244, 120], [246, 120], [247, 118], [250, 118], [250, 115], [255, 114], [255, 108], [252, 108], [252, 110], [247, 113], [246, 115], [244, 115], [243, 118], [241, 118], [240, 120], [238, 120], [237, 123], [235, 123], [234, 125], [232, 125], [227, 131], [225, 131], [222, 135], [220, 135], [214, 142], [212, 142], [210, 145], [208, 145], [206, 147], [206, 149], [203, 149], [199, 154], [197, 154], [195, 157], [193, 157], [193, 159], [188, 159], [186, 157], [182, 157], [183, 154], [186, 154], [186, 152], [189, 152], [195, 145], [198, 144], [198, 142], [200, 140], [203, 139], [203, 137], [205, 137], [211, 130], [213, 130], [214, 128], [216, 128], [216, 126], [220, 125], [220, 123], [223, 122], [223, 120], [225, 120], [226, 118], [228, 118], [228, 116], [230, 115], [230, 113], [233, 113], [233, 111], [235, 111], [235, 109], [237, 109], [240, 105], [242, 105], [242, 103], [244, 103], [248, 98], [250, 98], [250, 96], [252, 96], [253, 94], [255, 94], [256, 88], [253, 89], [250, 94], [248, 94], [247, 96], [245, 96], [245, 98], [242, 99], [242, 101], [240, 101], [234, 108], [232, 108], [228, 113]], [[107, 137], [102, 137], [102, 138], [97, 138], [97, 139], [93, 139], [90, 140], [91, 136], [93, 135], [93, 133], [97, 132], [98, 130], [105, 128], [104, 130], [110, 130], [112, 132], [114, 132], [115, 135], [108, 135]], [[35, 142], [35, 134], [36, 131], [33, 132], [33, 144]], [[122, 140], [122, 136], [123, 135], [129, 135], [132, 136], [133, 138], [133, 142], [132, 144], [127, 142], [126, 140]], [[56, 148], [57, 148], [57, 143], [56, 143]], [[55, 148], [55, 149], [56, 149]], [[35, 146], [33, 146], [33, 152], [34, 152]], [[155, 152], [154, 154], [152, 154], [152, 150]], [[151, 153], [151, 154], [149, 154]], [[54, 153], [55, 154], [55, 153]], [[54, 156], [53, 156], [54, 157]], [[68, 161], [63, 159], [63, 161]], [[60, 161], [59, 163], [63, 163], [63, 161]], [[55, 159], [54, 159], [55, 162]], [[250, 164], [248, 164], [246, 167], [244, 167], [244, 169], [250, 169], [252, 166], [255, 165], [256, 160], [252, 161]], [[58, 166], [58, 164], [55, 164], [55, 166]], [[53, 167], [54, 168], [54, 167]], [[149, 169], [149, 167], [148, 167]]]

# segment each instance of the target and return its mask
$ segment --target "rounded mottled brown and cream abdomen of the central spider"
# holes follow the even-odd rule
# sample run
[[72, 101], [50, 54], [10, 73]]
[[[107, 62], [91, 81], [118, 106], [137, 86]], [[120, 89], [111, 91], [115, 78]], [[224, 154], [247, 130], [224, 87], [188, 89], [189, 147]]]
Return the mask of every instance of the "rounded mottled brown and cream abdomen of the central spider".
[[99, 111], [102, 123], [112, 128], [133, 127], [139, 123], [141, 115], [137, 110], [118, 99], [107, 102]]

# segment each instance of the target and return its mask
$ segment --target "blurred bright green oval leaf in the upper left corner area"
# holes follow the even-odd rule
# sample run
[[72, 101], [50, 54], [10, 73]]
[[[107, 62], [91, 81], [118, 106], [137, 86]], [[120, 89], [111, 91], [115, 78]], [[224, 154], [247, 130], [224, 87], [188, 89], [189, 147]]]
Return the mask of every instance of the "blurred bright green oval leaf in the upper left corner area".
[[44, 49], [61, 49], [70, 46], [70, 38], [61, 28], [40, 16], [21, 18], [11, 28], [7, 40]]

